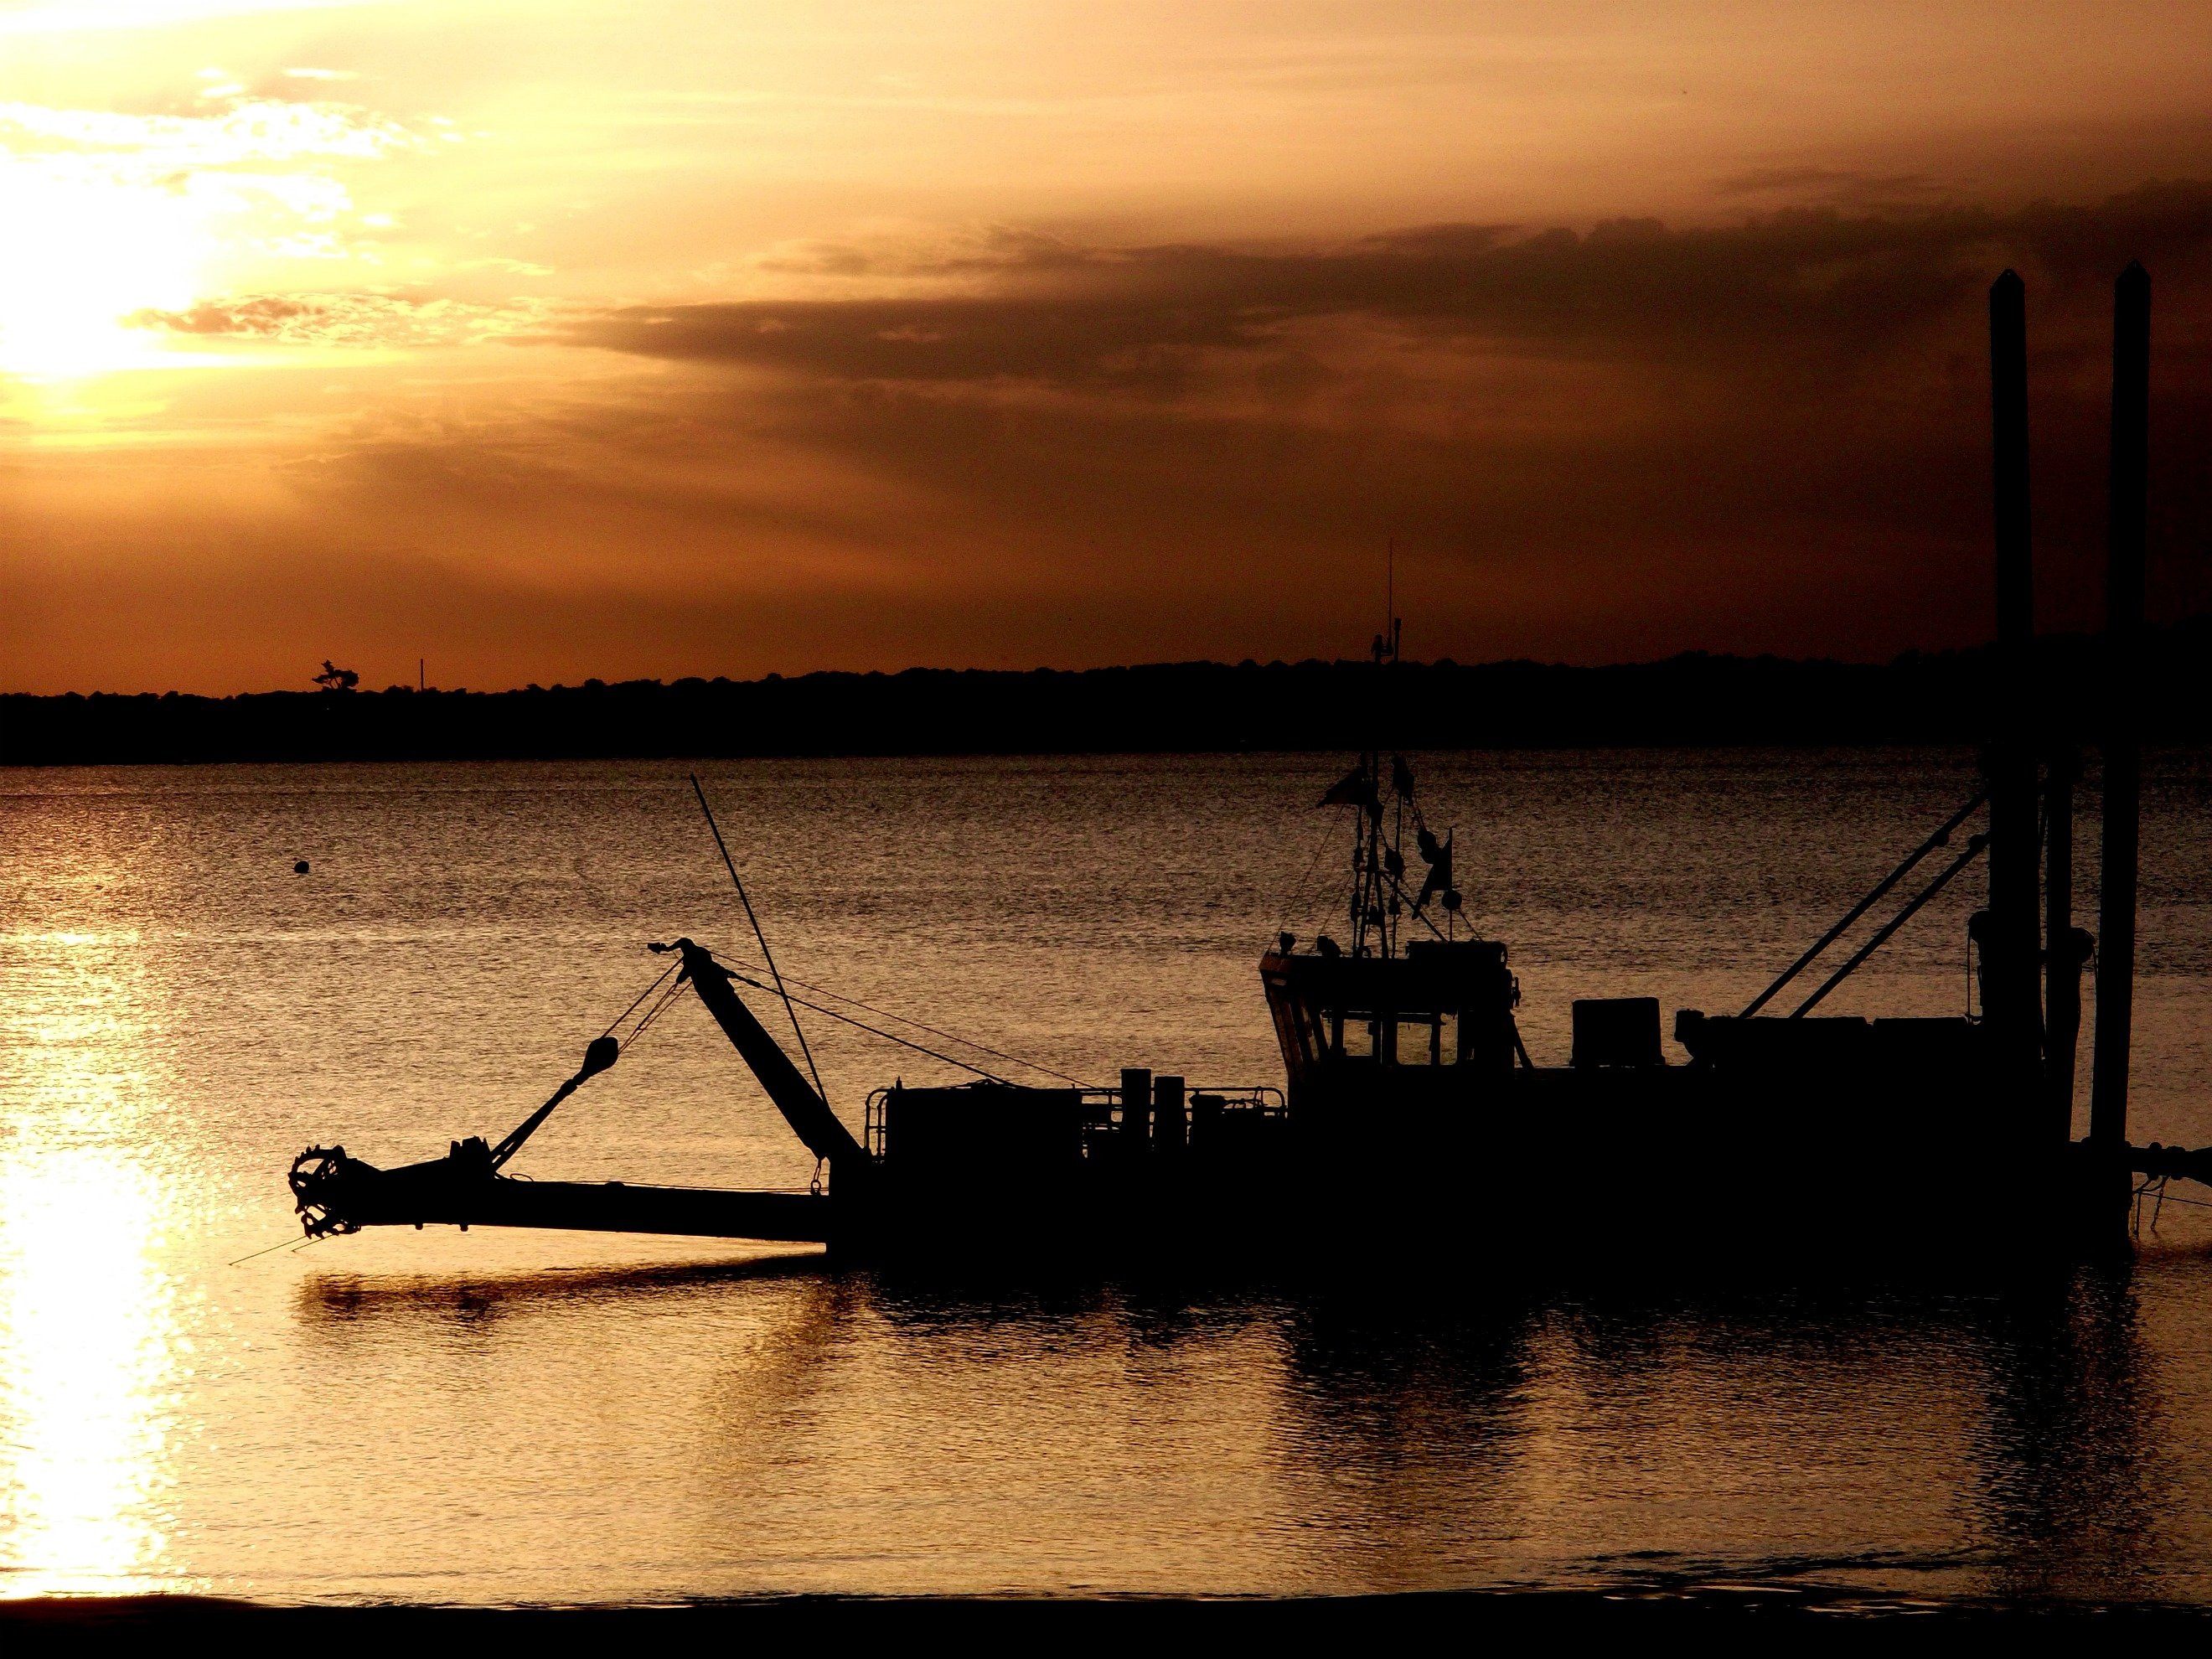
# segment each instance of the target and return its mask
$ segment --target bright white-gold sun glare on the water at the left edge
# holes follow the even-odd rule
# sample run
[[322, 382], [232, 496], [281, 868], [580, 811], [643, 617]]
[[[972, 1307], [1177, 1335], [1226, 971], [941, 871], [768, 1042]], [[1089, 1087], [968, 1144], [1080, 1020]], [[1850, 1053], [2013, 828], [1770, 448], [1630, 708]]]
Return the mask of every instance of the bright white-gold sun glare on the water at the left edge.
[[15, 975], [31, 995], [4, 1018], [0, 1595], [164, 1582], [175, 1194], [139, 1139], [144, 1022], [100, 956]]

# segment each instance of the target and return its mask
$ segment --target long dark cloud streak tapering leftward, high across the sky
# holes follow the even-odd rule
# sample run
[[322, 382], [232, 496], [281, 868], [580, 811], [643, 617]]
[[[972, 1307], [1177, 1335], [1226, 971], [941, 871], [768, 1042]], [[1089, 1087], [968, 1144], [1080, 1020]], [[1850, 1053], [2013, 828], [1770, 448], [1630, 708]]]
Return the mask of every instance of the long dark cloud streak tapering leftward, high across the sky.
[[1427, 341], [1601, 354], [1807, 358], [1893, 345], [2017, 263], [2062, 292], [2128, 257], [2192, 270], [2212, 186], [2146, 186], [2095, 208], [1792, 210], [1732, 228], [1619, 219], [1586, 234], [1427, 226], [1323, 250], [1077, 248], [1000, 239], [911, 265], [823, 250], [814, 270], [947, 279], [896, 299], [624, 307], [573, 338], [613, 352], [836, 380], [1157, 383], [1208, 354], [1263, 354], [1316, 323]]

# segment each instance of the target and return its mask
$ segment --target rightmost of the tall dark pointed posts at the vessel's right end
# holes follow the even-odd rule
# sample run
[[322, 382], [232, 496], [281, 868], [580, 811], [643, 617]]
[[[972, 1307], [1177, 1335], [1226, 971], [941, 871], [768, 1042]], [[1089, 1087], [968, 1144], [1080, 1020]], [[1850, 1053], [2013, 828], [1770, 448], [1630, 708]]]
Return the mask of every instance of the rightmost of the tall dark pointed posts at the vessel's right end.
[[2128, 1035], [2135, 1020], [2135, 865], [2141, 812], [2139, 655], [2143, 518], [2150, 487], [2150, 274], [2130, 263], [2112, 290], [2112, 471], [2104, 588], [2104, 849], [2097, 902], [2097, 1053], [2088, 1137], [2128, 1139]]

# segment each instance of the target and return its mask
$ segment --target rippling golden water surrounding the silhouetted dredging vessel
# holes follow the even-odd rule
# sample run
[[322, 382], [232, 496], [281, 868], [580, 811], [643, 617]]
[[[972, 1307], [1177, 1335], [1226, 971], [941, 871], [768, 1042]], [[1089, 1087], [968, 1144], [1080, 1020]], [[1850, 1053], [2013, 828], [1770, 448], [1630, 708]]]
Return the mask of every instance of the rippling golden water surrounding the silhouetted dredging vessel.
[[[1079, 1077], [1279, 1082], [1254, 960], [1329, 925], [1338, 770], [706, 776], [785, 971]], [[1741, 1004], [1971, 790], [1927, 752], [1422, 772], [1540, 1062], [1573, 995]], [[2137, 1139], [2212, 1141], [2208, 792], [2154, 759]], [[487, 1230], [228, 1265], [288, 1239], [305, 1141], [389, 1164], [504, 1133], [655, 975], [646, 940], [745, 953], [684, 768], [0, 772], [0, 847], [4, 1595], [2212, 1601], [2212, 1210], [2170, 1201], [2128, 1272], [2002, 1292], [1531, 1290], [1606, 1203], [1575, 1170], [1540, 1172], [1551, 1234], [1420, 1294], [945, 1287]], [[1836, 1011], [1960, 1011], [1966, 885]], [[810, 1035], [849, 1121], [949, 1075]], [[810, 1159], [686, 1000], [515, 1170], [803, 1186]]]

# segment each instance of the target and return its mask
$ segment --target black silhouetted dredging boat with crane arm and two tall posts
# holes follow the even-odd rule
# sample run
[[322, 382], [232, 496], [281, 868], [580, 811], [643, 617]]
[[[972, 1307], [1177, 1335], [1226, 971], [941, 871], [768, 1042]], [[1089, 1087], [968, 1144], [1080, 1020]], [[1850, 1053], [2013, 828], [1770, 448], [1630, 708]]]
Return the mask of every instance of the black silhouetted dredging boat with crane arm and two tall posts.
[[[2037, 726], [2026, 513], [2024, 290], [1991, 290], [1997, 650], [1982, 783], [1927, 825], [1823, 938], [1736, 1011], [1584, 998], [1564, 1066], [1533, 1064], [1509, 945], [1462, 918], [1453, 836], [1427, 823], [1413, 768], [1371, 748], [1321, 805], [1349, 821], [1343, 938], [1281, 933], [1259, 958], [1279, 1084], [1210, 1086], [1130, 1066], [1108, 1086], [894, 1084], [858, 1133], [825, 1102], [794, 998], [690, 938], [655, 942], [666, 1002], [697, 993], [825, 1179], [810, 1192], [522, 1181], [507, 1164], [577, 1086], [615, 1064], [624, 1022], [498, 1144], [376, 1168], [312, 1146], [290, 1186], [310, 1237], [374, 1225], [509, 1225], [818, 1241], [860, 1261], [1029, 1261], [1387, 1250], [1444, 1272], [1544, 1239], [1619, 1256], [1900, 1252], [2075, 1256], [2126, 1248], [2146, 1183], [2212, 1181], [2212, 1148], [2128, 1141], [2143, 613], [2148, 276], [2115, 310], [2112, 513], [2099, 732], [2101, 894], [2090, 1124], [2073, 1137], [2081, 975], [2073, 916], [2081, 754]], [[1376, 639], [1387, 703], [1398, 624]], [[695, 779], [697, 787], [697, 779]], [[712, 827], [712, 810], [699, 794]], [[714, 830], [730, 878], [737, 865]], [[1980, 1013], [1865, 1020], [1818, 1009], [1973, 865]], [[1849, 929], [1889, 907], [1863, 942]], [[1332, 922], [1334, 927], [1334, 922]], [[1840, 960], [1838, 960], [1840, 958]], [[648, 993], [650, 998], [653, 993]], [[799, 1057], [748, 998], [783, 1004]], [[630, 1035], [653, 1013], [633, 1015]], [[641, 998], [641, 1004], [646, 998]], [[830, 1013], [825, 1004], [818, 1006]], [[907, 1037], [911, 1042], [911, 1037]], [[916, 1044], [920, 1046], [920, 1044]]]

